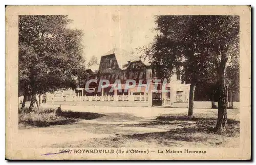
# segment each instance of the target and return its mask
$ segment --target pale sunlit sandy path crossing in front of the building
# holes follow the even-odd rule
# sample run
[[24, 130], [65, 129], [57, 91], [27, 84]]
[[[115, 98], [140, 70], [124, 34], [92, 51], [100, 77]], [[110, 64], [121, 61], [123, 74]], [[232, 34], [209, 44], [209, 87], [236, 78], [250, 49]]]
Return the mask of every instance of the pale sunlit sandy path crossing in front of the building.
[[[156, 120], [160, 114], [186, 113], [186, 108], [162, 107], [80, 107], [61, 106], [63, 111], [71, 109], [77, 112], [94, 112], [105, 116], [94, 120], [80, 120], [68, 125], [55, 125], [46, 128], [30, 128], [19, 130], [20, 143], [23, 147], [79, 147], [83, 143], [95, 143], [95, 139], [135, 133], [164, 132], [177, 125], [147, 124]], [[217, 116], [217, 109], [195, 109], [195, 113], [208, 111]], [[239, 115], [232, 115], [238, 118]]]

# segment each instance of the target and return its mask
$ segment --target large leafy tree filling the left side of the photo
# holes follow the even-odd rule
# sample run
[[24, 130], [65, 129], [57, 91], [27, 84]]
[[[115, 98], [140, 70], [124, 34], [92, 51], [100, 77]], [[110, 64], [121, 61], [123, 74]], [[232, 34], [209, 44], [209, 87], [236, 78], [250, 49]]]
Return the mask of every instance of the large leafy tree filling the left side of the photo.
[[36, 95], [75, 89], [80, 79], [87, 78], [82, 65], [82, 32], [68, 29], [71, 20], [63, 15], [29, 15], [18, 19], [18, 87], [24, 95], [32, 95], [32, 110], [37, 103]]

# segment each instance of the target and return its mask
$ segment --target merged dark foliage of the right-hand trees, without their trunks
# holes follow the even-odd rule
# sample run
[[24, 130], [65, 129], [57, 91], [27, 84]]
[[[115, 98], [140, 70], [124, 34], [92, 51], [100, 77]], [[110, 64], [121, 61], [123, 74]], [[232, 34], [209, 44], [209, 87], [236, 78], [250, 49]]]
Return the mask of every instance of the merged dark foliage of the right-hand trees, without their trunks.
[[238, 16], [156, 16], [158, 34], [144, 52], [161, 68], [161, 76], [168, 78], [174, 68], [183, 66], [182, 80], [191, 83], [217, 69], [220, 49], [238, 41], [238, 23]]

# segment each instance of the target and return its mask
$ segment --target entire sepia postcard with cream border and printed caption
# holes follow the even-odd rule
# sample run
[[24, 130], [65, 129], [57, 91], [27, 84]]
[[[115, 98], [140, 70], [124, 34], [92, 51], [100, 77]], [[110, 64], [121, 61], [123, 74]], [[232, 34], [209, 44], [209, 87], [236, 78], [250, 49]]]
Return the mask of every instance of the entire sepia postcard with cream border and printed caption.
[[251, 7], [6, 6], [6, 159], [251, 159]]

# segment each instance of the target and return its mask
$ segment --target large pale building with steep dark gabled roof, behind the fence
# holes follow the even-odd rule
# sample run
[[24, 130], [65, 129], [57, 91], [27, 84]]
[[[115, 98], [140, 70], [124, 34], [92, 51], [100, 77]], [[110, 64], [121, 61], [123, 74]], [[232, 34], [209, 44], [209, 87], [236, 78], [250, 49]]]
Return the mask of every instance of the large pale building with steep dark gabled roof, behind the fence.
[[[133, 53], [113, 49], [101, 56], [100, 64], [87, 72], [90, 79], [96, 80], [87, 88], [47, 93], [46, 102], [54, 105], [188, 107], [189, 84], [182, 84], [179, 75], [170, 77], [166, 85], [156, 82], [159, 79], [156, 70]], [[100, 87], [102, 79], [110, 82], [109, 87]], [[117, 79], [121, 89], [111, 90]], [[125, 90], [127, 79], [135, 80], [136, 85]], [[148, 82], [151, 83], [147, 86]], [[88, 89], [95, 92], [90, 93]]]

